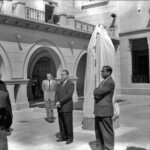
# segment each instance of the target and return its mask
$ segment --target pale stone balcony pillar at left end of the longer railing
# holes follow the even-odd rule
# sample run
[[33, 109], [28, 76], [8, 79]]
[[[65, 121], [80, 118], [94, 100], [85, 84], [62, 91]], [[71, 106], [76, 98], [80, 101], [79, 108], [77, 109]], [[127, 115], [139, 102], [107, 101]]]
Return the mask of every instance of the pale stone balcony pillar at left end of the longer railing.
[[13, 3], [13, 15], [25, 18], [25, 2]]

